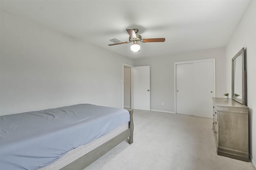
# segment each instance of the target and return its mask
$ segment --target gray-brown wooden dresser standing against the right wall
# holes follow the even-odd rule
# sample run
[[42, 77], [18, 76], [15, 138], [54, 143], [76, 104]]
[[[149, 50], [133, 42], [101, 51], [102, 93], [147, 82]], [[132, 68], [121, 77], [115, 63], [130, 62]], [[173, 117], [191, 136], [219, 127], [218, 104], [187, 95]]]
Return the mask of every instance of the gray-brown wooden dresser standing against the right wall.
[[248, 107], [232, 99], [212, 100], [217, 154], [249, 162]]

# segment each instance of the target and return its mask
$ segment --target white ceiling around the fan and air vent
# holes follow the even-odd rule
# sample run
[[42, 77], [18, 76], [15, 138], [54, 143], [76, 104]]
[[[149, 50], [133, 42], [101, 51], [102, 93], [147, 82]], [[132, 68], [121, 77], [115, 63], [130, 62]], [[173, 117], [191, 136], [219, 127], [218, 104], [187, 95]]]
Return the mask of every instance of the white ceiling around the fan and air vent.
[[[130, 58], [156, 57], [223, 47], [244, 14], [248, 0], [44, 0], [2, 1], [1, 10], [52, 27]], [[164, 43], [108, 46], [112, 38], [128, 41], [126, 29], [138, 28], [142, 38]]]

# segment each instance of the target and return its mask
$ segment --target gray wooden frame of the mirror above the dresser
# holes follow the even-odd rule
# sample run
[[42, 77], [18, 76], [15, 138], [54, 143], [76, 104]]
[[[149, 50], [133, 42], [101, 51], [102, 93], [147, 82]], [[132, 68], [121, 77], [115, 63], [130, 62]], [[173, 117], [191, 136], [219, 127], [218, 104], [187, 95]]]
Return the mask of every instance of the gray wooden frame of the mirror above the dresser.
[[[242, 54], [242, 99], [238, 99], [234, 96], [234, 60]], [[242, 48], [233, 58], [232, 58], [232, 99], [236, 102], [239, 102], [240, 104], [245, 105], [245, 70], [244, 70], [244, 48]]]

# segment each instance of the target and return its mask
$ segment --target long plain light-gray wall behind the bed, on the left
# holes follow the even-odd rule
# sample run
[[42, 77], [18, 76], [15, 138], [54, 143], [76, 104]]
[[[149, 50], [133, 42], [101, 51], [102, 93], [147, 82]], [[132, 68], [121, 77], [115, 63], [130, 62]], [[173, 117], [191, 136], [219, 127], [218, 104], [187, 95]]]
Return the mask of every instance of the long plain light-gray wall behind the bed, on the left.
[[1, 11], [1, 115], [79, 103], [122, 107], [132, 60]]

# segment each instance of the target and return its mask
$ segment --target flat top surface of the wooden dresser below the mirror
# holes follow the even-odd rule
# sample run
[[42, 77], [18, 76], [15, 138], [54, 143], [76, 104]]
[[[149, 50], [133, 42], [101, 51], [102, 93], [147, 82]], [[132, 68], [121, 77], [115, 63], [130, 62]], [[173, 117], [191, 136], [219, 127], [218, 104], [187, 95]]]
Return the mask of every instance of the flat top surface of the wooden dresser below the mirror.
[[230, 98], [212, 98], [212, 101], [216, 106], [224, 106], [224, 107], [242, 107], [242, 108], [248, 108], [245, 105], [242, 105]]

